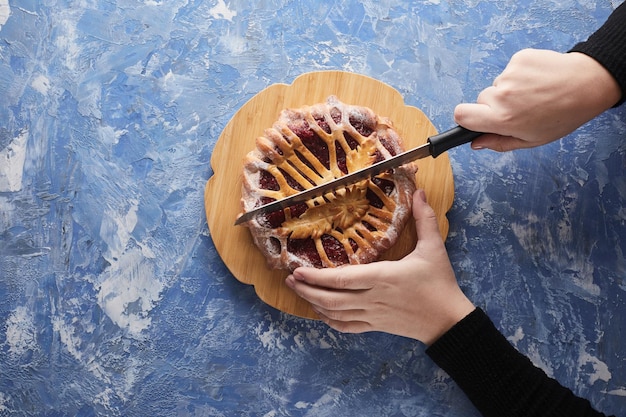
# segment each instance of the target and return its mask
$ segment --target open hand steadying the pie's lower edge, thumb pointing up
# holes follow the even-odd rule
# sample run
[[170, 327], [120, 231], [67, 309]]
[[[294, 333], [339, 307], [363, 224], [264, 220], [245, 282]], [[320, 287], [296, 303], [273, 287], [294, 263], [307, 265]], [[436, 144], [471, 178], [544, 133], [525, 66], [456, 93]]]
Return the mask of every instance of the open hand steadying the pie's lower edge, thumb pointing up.
[[415, 250], [399, 261], [298, 268], [287, 285], [321, 320], [349, 333], [383, 331], [432, 344], [474, 310], [459, 288], [433, 209], [413, 195]]

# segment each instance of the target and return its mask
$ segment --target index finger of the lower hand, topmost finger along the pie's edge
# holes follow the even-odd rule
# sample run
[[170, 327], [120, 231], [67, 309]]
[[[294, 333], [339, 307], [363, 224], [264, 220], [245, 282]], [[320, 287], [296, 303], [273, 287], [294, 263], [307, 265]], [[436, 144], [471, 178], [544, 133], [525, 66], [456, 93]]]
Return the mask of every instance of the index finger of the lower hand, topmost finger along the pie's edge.
[[379, 263], [369, 265], [346, 265], [339, 268], [297, 268], [293, 271], [296, 280], [317, 287], [337, 290], [367, 290], [374, 286], [379, 276]]

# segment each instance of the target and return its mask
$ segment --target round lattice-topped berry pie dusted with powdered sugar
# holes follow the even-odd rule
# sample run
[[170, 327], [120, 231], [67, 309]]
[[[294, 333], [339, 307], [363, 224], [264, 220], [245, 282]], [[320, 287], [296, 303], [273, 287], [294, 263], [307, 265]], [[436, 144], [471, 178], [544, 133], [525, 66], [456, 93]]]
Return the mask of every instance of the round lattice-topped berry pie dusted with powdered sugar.
[[[285, 109], [243, 162], [244, 212], [403, 152], [390, 120], [371, 109], [325, 103]], [[411, 215], [413, 163], [244, 223], [274, 269], [375, 261]]]

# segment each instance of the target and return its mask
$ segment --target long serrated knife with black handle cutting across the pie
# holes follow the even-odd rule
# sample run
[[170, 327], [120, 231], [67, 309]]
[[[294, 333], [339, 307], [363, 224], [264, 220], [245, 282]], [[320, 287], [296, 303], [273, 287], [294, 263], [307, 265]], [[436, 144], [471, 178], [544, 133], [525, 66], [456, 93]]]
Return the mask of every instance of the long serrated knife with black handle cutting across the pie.
[[481, 132], [474, 132], [473, 130], [468, 130], [461, 126], [453, 127], [452, 129], [446, 130], [443, 133], [430, 136], [426, 140], [425, 144], [418, 146], [417, 148], [413, 148], [408, 151], [399, 153], [392, 158], [385, 159], [368, 167], [351, 172], [344, 175], [343, 177], [339, 177], [332, 181], [316, 185], [315, 187], [301, 191], [289, 197], [275, 200], [271, 203], [267, 203], [253, 210], [250, 210], [239, 216], [235, 221], [235, 225], [245, 223], [261, 213], [271, 213], [273, 211], [292, 206], [295, 203], [310, 200], [311, 198], [320, 197], [328, 193], [329, 191], [335, 191], [347, 185], [355, 184], [361, 180], [371, 178], [377, 174], [380, 174], [381, 172], [399, 167], [410, 161], [425, 158], [427, 156], [432, 156], [433, 158], [436, 158], [445, 151], [459, 145], [471, 142], [480, 135], [482, 135]]

